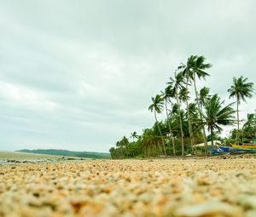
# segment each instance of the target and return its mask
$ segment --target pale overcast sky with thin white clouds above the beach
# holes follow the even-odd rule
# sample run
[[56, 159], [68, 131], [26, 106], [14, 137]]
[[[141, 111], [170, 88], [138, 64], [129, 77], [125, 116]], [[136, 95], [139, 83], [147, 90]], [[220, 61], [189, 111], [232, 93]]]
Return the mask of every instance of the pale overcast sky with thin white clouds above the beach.
[[1, 1], [0, 150], [108, 151], [154, 124], [151, 97], [191, 54], [228, 104], [232, 77], [256, 83], [255, 25], [254, 0]]

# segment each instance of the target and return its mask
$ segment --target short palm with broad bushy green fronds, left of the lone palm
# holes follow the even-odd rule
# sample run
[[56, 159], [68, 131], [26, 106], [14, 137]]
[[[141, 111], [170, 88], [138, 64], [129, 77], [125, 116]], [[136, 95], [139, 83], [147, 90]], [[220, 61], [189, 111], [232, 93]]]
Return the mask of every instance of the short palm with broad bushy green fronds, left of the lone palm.
[[213, 146], [213, 130], [217, 129], [218, 133], [221, 133], [223, 128], [220, 126], [227, 126], [234, 124], [234, 113], [236, 112], [232, 108], [232, 104], [224, 106], [224, 100], [220, 101], [218, 94], [212, 95], [212, 97], [206, 101], [205, 104], [205, 123], [207, 124], [208, 131], [211, 134], [212, 146]]

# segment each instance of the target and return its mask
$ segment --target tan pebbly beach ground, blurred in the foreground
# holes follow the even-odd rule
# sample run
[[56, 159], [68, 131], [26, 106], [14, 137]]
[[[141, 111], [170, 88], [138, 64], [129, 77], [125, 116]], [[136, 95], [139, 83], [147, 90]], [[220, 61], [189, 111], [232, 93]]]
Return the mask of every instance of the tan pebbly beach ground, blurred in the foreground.
[[256, 216], [256, 159], [0, 166], [0, 216]]

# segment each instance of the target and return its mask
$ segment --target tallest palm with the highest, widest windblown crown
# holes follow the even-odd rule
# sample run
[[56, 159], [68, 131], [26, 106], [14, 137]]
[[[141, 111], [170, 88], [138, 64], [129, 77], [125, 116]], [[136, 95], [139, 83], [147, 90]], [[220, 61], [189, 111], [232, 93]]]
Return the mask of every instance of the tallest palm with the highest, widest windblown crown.
[[[194, 89], [195, 89], [195, 100], [197, 102], [197, 108], [200, 113], [201, 120], [203, 118], [201, 107], [199, 104], [199, 97], [198, 92], [196, 88], [196, 77], [199, 79], [206, 78], [209, 76], [209, 74], [205, 71], [206, 69], [212, 67], [211, 64], [205, 63], [206, 58], [204, 56], [197, 56], [197, 55], [191, 55], [189, 59], [187, 60], [186, 65], [184, 65], [183, 73], [188, 74], [193, 83], [194, 83]], [[207, 134], [204, 127], [202, 127], [203, 134], [204, 134], [204, 143], [205, 143], [205, 151], [207, 152]]]

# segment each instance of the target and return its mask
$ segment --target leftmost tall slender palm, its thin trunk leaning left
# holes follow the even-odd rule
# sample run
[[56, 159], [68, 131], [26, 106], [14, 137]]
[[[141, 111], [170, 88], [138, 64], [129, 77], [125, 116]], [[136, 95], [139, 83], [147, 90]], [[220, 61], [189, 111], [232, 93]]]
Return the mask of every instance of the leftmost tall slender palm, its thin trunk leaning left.
[[164, 149], [164, 152], [165, 152], [165, 155], [166, 155], [165, 141], [164, 141], [163, 135], [161, 133], [157, 117], [156, 117], [156, 113], [160, 114], [163, 111], [164, 102], [163, 102], [163, 99], [161, 98], [161, 96], [159, 94], [157, 94], [155, 97], [152, 97], [151, 99], [152, 99], [152, 104], [148, 107], [148, 110], [151, 111], [151, 112], [154, 111], [155, 123], [157, 123], [159, 133], [160, 133], [160, 137], [161, 137], [161, 140], [162, 140], [163, 149]]

